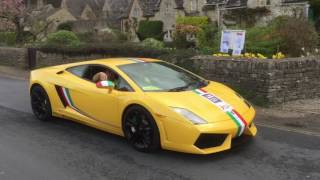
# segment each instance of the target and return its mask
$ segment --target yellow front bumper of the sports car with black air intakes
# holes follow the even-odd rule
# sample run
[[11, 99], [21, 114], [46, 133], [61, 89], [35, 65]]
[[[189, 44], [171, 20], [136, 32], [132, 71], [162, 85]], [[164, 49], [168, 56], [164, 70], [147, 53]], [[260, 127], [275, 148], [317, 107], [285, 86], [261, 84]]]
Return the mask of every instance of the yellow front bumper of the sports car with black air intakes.
[[[249, 126], [242, 136], [255, 136], [257, 128], [253, 123], [254, 109], [251, 108], [243, 117]], [[192, 154], [211, 154], [230, 149], [234, 140], [239, 139], [237, 126], [231, 120], [198, 126], [177, 123], [169, 120], [163, 122], [165, 135], [161, 138], [162, 148]]]

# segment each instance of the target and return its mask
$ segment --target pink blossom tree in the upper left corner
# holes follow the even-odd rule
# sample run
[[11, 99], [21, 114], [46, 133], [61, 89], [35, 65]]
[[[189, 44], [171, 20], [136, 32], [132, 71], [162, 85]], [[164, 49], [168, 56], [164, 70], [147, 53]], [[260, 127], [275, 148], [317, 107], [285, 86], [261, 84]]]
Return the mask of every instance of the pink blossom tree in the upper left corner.
[[24, 0], [1, 0], [0, 18], [4, 18], [15, 25], [16, 42], [22, 42], [23, 18], [26, 15]]

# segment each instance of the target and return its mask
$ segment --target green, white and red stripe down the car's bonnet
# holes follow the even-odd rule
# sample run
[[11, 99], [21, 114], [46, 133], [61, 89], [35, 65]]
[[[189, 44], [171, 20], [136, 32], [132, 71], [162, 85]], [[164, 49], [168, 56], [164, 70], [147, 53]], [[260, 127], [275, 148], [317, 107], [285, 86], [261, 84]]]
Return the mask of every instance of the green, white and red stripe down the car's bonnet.
[[241, 136], [244, 133], [245, 128], [248, 126], [248, 123], [231, 105], [224, 102], [223, 100], [218, 98], [216, 95], [208, 93], [204, 89], [195, 89], [194, 92], [197, 93], [198, 95], [204, 97], [208, 101], [210, 101], [212, 104], [214, 104], [216, 107], [220, 108], [222, 111], [224, 111], [230, 117], [230, 119], [238, 127], [237, 136]]

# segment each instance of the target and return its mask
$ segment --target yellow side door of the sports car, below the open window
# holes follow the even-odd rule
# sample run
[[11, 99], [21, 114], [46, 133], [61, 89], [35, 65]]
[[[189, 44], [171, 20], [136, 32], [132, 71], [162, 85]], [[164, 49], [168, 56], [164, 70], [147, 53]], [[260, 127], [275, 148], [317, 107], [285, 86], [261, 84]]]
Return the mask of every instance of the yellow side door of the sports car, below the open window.
[[[123, 96], [128, 95], [132, 89], [128, 88], [116, 88], [110, 91], [109, 89], [97, 88], [96, 84], [91, 81], [91, 77], [94, 76], [94, 68], [100, 69], [108, 67], [102, 65], [87, 65], [84, 72], [78, 73], [77, 68], [73, 67], [68, 69], [73, 78], [80, 79], [79, 84], [69, 87], [69, 94], [72, 99], [74, 110], [78, 111], [84, 116], [87, 116], [99, 123], [103, 123], [112, 128], [121, 127], [121, 115], [119, 112], [119, 101]], [[71, 78], [71, 77], [70, 77]], [[119, 78], [123, 78], [119, 76]], [[122, 85], [122, 88], [125, 87]]]

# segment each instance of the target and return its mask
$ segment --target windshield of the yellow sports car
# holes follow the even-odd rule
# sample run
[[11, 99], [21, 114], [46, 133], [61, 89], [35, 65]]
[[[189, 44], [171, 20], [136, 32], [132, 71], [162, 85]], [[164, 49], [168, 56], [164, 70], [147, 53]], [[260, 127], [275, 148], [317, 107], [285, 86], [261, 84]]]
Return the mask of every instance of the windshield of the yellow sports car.
[[208, 82], [165, 62], [134, 63], [119, 66], [143, 91], [186, 91], [202, 88]]

